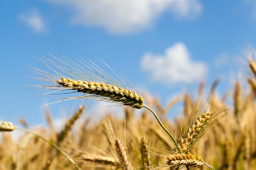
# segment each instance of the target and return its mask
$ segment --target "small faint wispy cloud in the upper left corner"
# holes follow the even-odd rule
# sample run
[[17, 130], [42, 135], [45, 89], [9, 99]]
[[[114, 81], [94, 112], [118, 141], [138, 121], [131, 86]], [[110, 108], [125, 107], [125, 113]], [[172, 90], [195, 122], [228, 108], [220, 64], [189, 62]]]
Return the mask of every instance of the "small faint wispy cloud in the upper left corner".
[[21, 13], [18, 15], [20, 21], [25, 22], [29, 28], [35, 33], [45, 32], [45, 22], [40, 16], [38, 10], [34, 9], [29, 14]]

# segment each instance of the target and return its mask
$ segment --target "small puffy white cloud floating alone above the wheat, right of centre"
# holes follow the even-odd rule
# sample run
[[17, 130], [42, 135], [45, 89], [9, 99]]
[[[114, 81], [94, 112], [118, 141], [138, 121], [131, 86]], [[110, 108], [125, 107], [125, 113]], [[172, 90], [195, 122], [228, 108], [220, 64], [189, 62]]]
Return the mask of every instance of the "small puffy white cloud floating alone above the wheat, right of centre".
[[145, 54], [141, 67], [150, 72], [152, 81], [164, 84], [200, 81], [207, 73], [206, 64], [192, 61], [183, 43], [168, 47], [164, 55]]

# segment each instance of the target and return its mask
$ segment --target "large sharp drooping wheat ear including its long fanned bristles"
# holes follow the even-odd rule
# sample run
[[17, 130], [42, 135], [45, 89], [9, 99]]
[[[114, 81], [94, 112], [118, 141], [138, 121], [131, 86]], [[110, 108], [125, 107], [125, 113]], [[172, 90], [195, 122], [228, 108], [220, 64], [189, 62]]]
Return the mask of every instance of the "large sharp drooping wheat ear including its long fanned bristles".
[[83, 59], [77, 59], [74, 62], [66, 57], [61, 59], [54, 56], [51, 57], [51, 60], [47, 57], [42, 57], [40, 62], [47, 66], [49, 72], [52, 73], [31, 67], [31, 71], [39, 75], [39, 77], [32, 78], [51, 83], [36, 86], [51, 90], [45, 95], [60, 95], [60, 91], [69, 91], [67, 93], [74, 93], [75, 96], [60, 98], [63, 99], [62, 101], [88, 98], [134, 108], [143, 107], [143, 98], [130, 84], [130, 81], [122, 75], [118, 76], [108, 65], [106, 66], [116, 78], [103, 71], [96, 64], [86, 62]]

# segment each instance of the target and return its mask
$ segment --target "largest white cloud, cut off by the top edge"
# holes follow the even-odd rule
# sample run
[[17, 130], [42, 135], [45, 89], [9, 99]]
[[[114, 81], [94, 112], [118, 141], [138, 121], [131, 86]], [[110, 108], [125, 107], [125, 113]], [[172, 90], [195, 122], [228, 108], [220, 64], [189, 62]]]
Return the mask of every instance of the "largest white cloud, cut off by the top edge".
[[202, 11], [199, 0], [54, 0], [74, 9], [72, 23], [103, 26], [112, 33], [146, 29], [164, 11], [178, 18], [196, 17]]

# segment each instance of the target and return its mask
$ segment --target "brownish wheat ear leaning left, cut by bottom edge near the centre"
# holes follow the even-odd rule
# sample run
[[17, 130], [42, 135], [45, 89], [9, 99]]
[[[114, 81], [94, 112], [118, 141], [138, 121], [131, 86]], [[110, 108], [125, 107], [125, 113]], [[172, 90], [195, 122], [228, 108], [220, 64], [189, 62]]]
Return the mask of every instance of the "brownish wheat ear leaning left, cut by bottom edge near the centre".
[[121, 164], [122, 170], [132, 170], [133, 168], [130, 166], [130, 163], [128, 162], [126, 150], [119, 139], [115, 140], [115, 148], [117, 150], [118, 159]]

